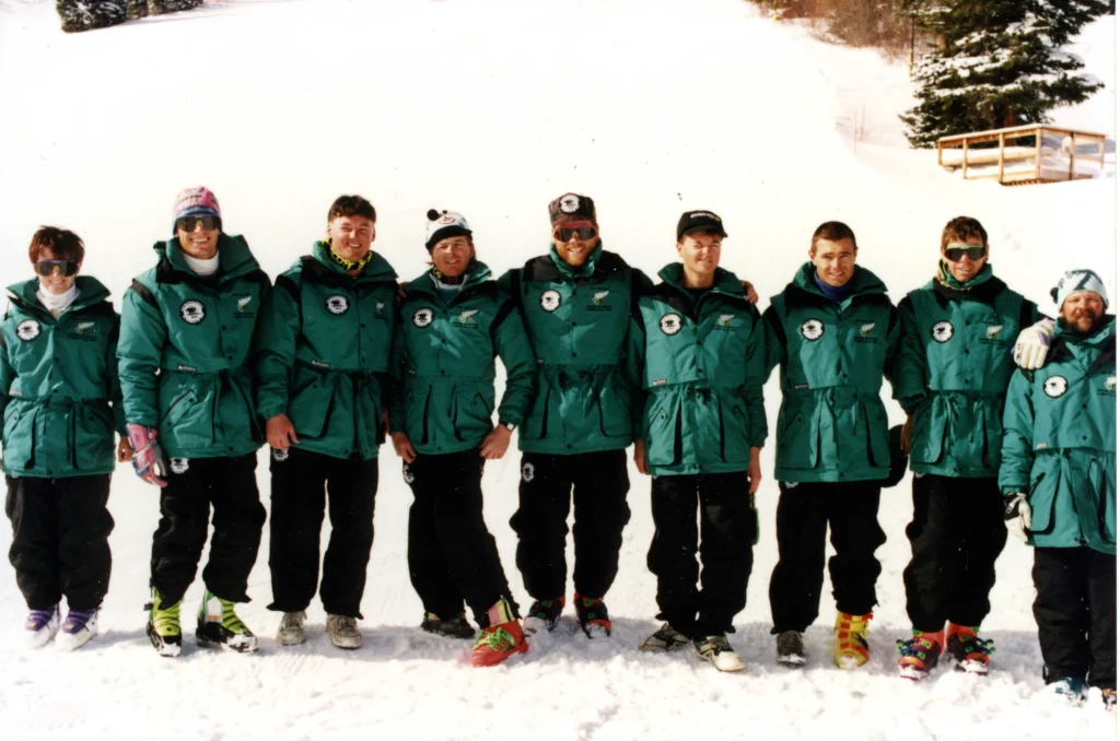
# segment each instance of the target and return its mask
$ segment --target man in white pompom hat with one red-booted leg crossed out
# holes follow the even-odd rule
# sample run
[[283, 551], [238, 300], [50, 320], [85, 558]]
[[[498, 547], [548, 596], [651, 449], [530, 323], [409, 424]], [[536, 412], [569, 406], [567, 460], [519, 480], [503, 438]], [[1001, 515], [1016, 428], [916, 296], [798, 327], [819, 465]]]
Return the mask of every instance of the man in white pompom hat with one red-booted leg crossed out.
[[[474, 233], [455, 212], [428, 212], [431, 269], [405, 285], [393, 341], [389, 429], [404, 459], [409, 575], [424, 607], [421, 628], [474, 637], [472, 664], [528, 650], [494, 536], [483, 519], [483, 466], [505, 456], [536, 387], [536, 358], [512, 297], [475, 256]], [[506, 382], [494, 425], [494, 360]]]

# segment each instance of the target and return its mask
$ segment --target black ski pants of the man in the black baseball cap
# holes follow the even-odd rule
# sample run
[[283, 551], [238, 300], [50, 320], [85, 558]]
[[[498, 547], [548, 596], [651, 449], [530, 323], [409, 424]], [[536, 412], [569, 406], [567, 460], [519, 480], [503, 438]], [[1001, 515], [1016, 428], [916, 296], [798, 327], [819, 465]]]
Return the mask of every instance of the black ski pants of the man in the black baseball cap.
[[657, 578], [657, 619], [687, 636], [732, 632], [758, 534], [746, 471], [656, 476], [650, 499], [655, 529], [646, 563]]

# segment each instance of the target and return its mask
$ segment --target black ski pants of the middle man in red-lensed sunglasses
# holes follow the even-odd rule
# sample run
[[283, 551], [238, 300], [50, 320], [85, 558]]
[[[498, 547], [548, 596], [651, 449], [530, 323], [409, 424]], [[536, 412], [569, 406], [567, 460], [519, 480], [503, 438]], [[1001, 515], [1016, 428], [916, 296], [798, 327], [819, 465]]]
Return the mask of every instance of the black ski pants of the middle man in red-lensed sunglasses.
[[618, 574], [623, 528], [629, 522], [626, 451], [521, 457], [517, 512], [517, 569], [536, 600], [566, 594], [568, 510], [576, 504], [576, 592], [601, 599]]

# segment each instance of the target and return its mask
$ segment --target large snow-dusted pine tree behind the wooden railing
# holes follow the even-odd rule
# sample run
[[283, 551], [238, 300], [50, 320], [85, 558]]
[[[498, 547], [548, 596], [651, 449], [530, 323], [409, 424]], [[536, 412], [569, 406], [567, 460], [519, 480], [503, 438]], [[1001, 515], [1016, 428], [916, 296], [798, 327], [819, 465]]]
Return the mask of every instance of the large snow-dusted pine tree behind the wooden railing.
[[1047, 123], [1101, 84], [1064, 51], [1082, 26], [1109, 12], [1101, 0], [899, 0], [939, 49], [914, 68], [918, 104], [900, 118], [912, 147], [965, 131]]

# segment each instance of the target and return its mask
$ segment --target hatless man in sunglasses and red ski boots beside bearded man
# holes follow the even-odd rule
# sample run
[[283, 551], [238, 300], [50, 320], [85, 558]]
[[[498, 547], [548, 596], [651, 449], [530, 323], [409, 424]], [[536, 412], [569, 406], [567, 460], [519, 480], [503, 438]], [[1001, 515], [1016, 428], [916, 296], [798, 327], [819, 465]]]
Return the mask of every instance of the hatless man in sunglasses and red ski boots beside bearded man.
[[[903, 344], [894, 395], [914, 471], [913, 559], [903, 572], [913, 637], [899, 674], [921, 679], [948, 653], [987, 674], [996, 559], [1007, 542], [999, 473], [1011, 346], [1038, 308], [992, 274], [988, 233], [960, 216], [941, 235], [936, 276], [898, 303]], [[948, 626], [946, 626], [948, 621]]]

